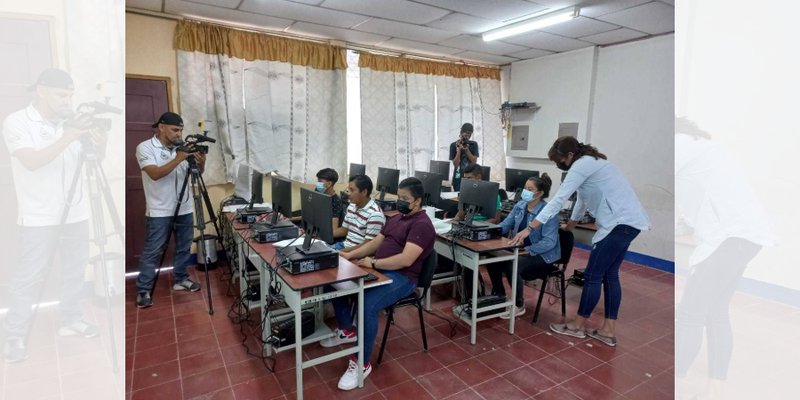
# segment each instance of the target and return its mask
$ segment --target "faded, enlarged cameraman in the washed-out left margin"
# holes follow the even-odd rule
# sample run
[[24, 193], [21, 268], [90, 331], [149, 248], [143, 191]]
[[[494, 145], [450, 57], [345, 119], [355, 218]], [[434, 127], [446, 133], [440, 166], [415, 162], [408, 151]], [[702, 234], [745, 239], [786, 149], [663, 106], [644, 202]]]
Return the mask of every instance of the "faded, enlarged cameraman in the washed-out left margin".
[[[82, 319], [83, 276], [89, 263], [89, 201], [80, 178], [89, 146], [105, 152], [106, 135], [91, 115], [75, 115], [75, 85], [65, 71], [49, 68], [29, 88], [33, 102], [3, 121], [17, 195], [17, 257], [10, 266], [8, 313], [2, 324], [3, 358], [25, 360], [27, 337], [41, 301], [49, 266], [61, 270], [59, 336], [97, 336]], [[73, 190], [74, 189], [74, 190]], [[72, 196], [70, 197], [70, 193]]]

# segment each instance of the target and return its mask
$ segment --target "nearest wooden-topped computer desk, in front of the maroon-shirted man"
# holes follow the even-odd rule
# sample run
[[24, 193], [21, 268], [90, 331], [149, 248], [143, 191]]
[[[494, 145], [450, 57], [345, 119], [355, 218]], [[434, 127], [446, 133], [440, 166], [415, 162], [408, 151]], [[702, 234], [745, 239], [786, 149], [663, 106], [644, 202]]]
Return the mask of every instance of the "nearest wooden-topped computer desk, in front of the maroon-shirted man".
[[[271, 243], [258, 243], [250, 240], [251, 230], [248, 229], [246, 224], [240, 224], [232, 220], [233, 216], [228, 218], [234, 233], [234, 240], [237, 241], [237, 254], [239, 256], [239, 270], [247, 270], [246, 259], [251, 259], [261, 265], [259, 270], [261, 293], [269, 293], [271, 287], [271, 279], [274, 275], [277, 279], [282, 281], [281, 294], [284, 296], [284, 301], [289, 306], [289, 312], [279, 314], [278, 310], [265, 311], [264, 307], [259, 307], [261, 310], [261, 319], [264, 323], [262, 330], [262, 341], [269, 343], [269, 334], [272, 332], [272, 318], [268, 318], [265, 313], [273, 312], [276, 314], [275, 318], [294, 318], [295, 321], [301, 321], [301, 314], [303, 306], [313, 305], [316, 315], [316, 330], [309, 337], [302, 338], [302, 324], [295, 323], [295, 344], [283, 347], [273, 348], [270, 344], [265, 344], [267, 355], [271, 355], [273, 350], [280, 352], [283, 350], [295, 350], [295, 378], [297, 382], [297, 398], [303, 398], [303, 369], [310, 368], [315, 365], [322, 364], [340, 357], [345, 357], [351, 354], [358, 355], [358, 365], [364, 365], [364, 328], [363, 324], [358, 324], [358, 341], [356, 346], [343, 349], [331, 354], [326, 354], [316, 357], [311, 360], [303, 361], [303, 345], [314, 343], [330, 337], [333, 332], [322, 321], [322, 301], [332, 299], [335, 297], [348, 296], [355, 294], [358, 296], [358, 321], [364, 320], [364, 289], [366, 287], [373, 287], [384, 285], [391, 282], [391, 279], [381, 274], [378, 271], [370, 270], [370, 272], [378, 277], [377, 280], [365, 284], [364, 277], [368, 275], [365, 269], [353, 264], [349, 260], [339, 257], [339, 266], [337, 268], [329, 268], [321, 271], [308, 272], [304, 274], [293, 275], [286, 271], [284, 268], [277, 268], [275, 263], [276, 254], [278, 249]], [[248, 251], [245, 255], [245, 248]], [[266, 272], [266, 273], [265, 273]], [[322, 290], [324, 287], [343, 281], [356, 281], [357, 284], [348, 289], [339, 289], [331, 292]], [[241, 289], [241, 288], [240, 288]], [[244, 288], [246, 290], [247, 288]], [[310, 289], [310, 291], [309, 291]], [[309, 294], [310, 293], [310, 294]], [[262, 351], [263, 351], [262, 350]], [[363, 368], [359, 368], [358, 373], [358, 386], [364, 386]]]

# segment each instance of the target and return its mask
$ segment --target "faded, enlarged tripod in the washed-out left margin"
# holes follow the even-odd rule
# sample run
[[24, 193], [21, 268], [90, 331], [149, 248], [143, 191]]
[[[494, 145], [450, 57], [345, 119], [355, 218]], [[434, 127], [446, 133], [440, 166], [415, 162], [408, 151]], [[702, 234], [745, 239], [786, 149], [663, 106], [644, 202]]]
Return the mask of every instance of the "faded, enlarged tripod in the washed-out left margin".
[[[109, 277], [108, 277], [108, 268], [106, 266], [107, 257], [106, 257], [106, 244], [108, 243], [107, 238], [113, 235], [119, 235], [122, 243], [125, 243], [125, 236], [124, 230], [122, 227], [122, 222], [119, 218], [119, 214], [117, 212], [117, 208], [114, 205], [114, 199], [111, 196], [111, 190], [109, 189], [108, 180], [105, 175], [105, 171], [103, 170], [102, 165], [98, 162], [97, 152], [95, 151], [94, 144], [89, 140], [89, 138], [84, 134], [80, 138], [80, 143], [82, 145], [83, 151], [78, 160], [78, 165], [75, 168], [75, 174], [72, 177], [72, 182], [70, 183], [69, 191], [67, 194], [67, 199], [64, 204], [64, 210], [61, 213], [61, 217], [59, 220], [59, 224], [57, 225], [57, 234], [56, 237], [61, 237], [61, 232], [63, 226], [67, 222], [67, 217], [69, 215], [69, 211], [72, 207], [72, 200], [75, 197], [75, 193], [78, 188], [78, 180], [81, 178], [81, 172], [83, 172], [86, 176], [86, 182], [88, 186], [89, 192], [89, 204], [90, 204], [90, 211], [91, 211], [91, 228], [92, 233], [94, 235], [94, 243], [98, 248], [99, 254], [98, 259], [100, 261], [100, 267], [102, 270], [102, 280], [103, 280], [103, 288], [104, 288], [104, 297], [105, 297], [105, 305], [106, 305], [106, 314], [108, 317], [108, 330], [109, 330], [109, 342], [111, 345], [111, 364], [112, 370], [114, 373], [119, 372], [118, 366], [118, 357], [117, 357], [117, 348], [115, 343], [115, 336], [114, 336], [114, 323], [112, 318], [111, 312], [111, 293], [109, 292]], [[102, 199], [101, 199], [102, 198]], [[104, 221], [104, 210], [103, 210], [103, 201], [105, 201], [105, 205], [108, 208], [108, 213], [111, 216], [111, 221], [114, 226], [114, 230], [111, 233], [106, 233], [105, 228], [105, 221]], [[47, 271], [45, 277], [49, 276], [49, 270], [52, 267], [55, 261], [57, 249], [53, 249], [52, 253], [50, 254], [47, 264], [45, 265], [44, 270]], [[97, 277], [95, 277], [97, 279]], [[39, 289], [39, 296], [37, 300], [37, 304], [41, 302], [42, 295], [44, 294], [44, 289], [46, 287], [46, 282], [42, 282], [42, 286]], [[33, 327], [33, 321], [36, 318], [36, 314], [38, 313], [39, 307], [35, 307], [33, 310], [33, 315], [31, 317], [31, 323], [28, 326], [28, 331], [25, 335], [25, 342], [27, 343], [28, 337], [30, 337], [30, 333]]]

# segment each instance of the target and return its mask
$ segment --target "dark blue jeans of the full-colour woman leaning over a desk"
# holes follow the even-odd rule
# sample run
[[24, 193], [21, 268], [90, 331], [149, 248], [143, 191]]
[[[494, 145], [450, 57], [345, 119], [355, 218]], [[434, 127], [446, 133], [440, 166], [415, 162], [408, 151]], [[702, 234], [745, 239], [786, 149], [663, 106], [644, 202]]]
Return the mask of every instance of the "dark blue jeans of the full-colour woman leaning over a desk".
[[625, 258], [633, 239], [639, 230], [628, 225], [617, 225], [611, 232], [592, 246], [589, 263], [584, 272], [583, 292], [578, 315], [589, 318], [600, 301], [600, 286], [605, 293], [605, 317], [617, 319], [622, 302], [622, 286], [619, 283], [619, 266]]

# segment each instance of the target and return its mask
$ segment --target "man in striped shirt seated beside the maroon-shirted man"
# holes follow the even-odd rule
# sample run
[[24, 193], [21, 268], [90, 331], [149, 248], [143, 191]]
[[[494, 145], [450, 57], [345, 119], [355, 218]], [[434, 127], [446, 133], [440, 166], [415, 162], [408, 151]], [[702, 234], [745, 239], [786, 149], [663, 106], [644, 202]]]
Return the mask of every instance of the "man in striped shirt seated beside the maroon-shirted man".
[[336, 233], [344, 235], [346, 232], [347, 237], [342, 248], [350, 251], [378, 236], [386, 223], [386, 217], [383, 215], [383, 210], [370, 198], [372, 180], [368, 176], [350, 177], [347, 192], [350, 205], [347, 207], [342, 226], [337, 229], [338, 232], [335, 232], [334, 236]]

